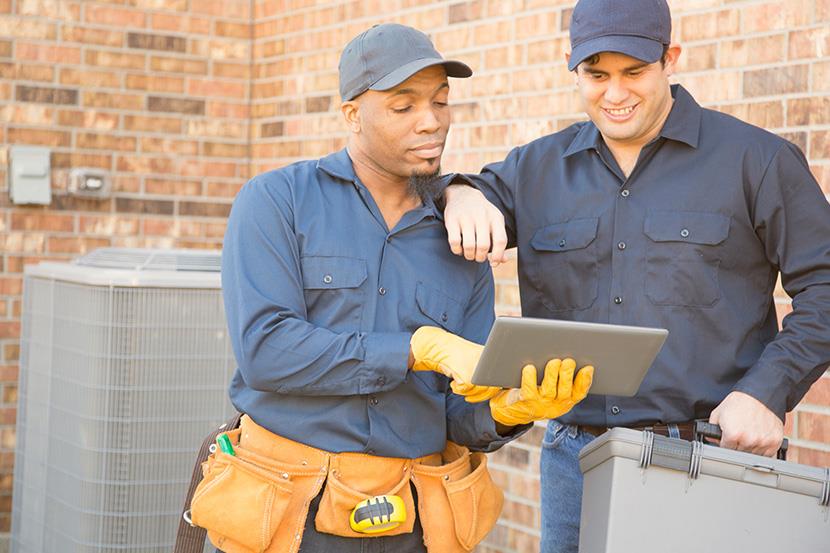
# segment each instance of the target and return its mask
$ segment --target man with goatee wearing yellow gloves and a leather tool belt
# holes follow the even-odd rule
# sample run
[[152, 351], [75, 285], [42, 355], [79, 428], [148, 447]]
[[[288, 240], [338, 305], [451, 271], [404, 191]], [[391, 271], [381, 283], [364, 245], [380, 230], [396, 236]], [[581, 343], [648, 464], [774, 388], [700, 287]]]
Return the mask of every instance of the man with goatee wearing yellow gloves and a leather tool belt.
[[[239, 363], [230, 396], [249, 417], [243, 419], [238, 456], [270, 448], [255, 448], [254, 436], [281, 444], [274, 450], [307, 453], [302, 464], [308, 466], [310, 459], [351, 455], [337, 457], [342, 468], [342, 459], [362, 455], [365, 468], [353, 476], [372, 488], [366, 479], [389, 478], [373, 474], [378, 459], [400, 461], [404, 473], [414, 473], [417, 463], [449, 462], [441, 454], [448, 440], [493, 451], [533, 420], [566, 412], [585, 397], [592, 369], [574, 376], [572, 360], [554, 360], [537, 386], [535, 369], [526, 368], [529, 376], [518, 394], [469, 385], [481, 352], [473, 342], [482, 343], [493, 322], [493, 279], [489, 266], [447, 250], [433, 198], [442, 189], [437, 175], [450, 124], [447, 76], [472, 72], [441, 58], [423, 33], [396, 24], [356, 37], [339, 69], [348, 147], [259, 175], [234, 202], [222, 256], [225, 308]], [[450, 379], [460, 393], [492, 399], [468, 403], [453, 393]], [[231, 466], [238, 462], [222, 459]], [[427, 460], [412, 466], [407, 460], [413, 459]], [[498, 516], [500, 492], [497, 500], [488, 499], [493, 494], [486, 489], [476, 496], [477, 515], [453, 510], [439, 517], [430, 513], [440, 498], [418, 488], [418, 519], [410, 532], [361, 539], [349, 527], [348, 510], [342, 520], [326, 519], [332, 502], [339, 501], [329, 496], [345, 493], [336, 492], [332, 480], [348, 479], [345, 470], [333, 468], [334, 461], [326, 462], [329, 483], [321, 495], [317, 487], [306, 500], [288, 504], [284, 518], [299, 512], [299, 526], [282, 532], [290, 521], [279, 522], [274, 540], [284, 541], [266, 544], [267, 551], [423, 551], [426, 541], [430, 552], [455, 552], [474, 545]], [[464, 462], [462, 457], [454, 466], [462, 463], [463, 469]], [[466, 462], [469, 472], [478, 461]], [[445, 475], [446, 485], [439, 481], [440, 495], [452, 492], [450, 485], [466, 485], [458, 467]], [[206, 480], [218, 472], [208, 468]], [[295, 496], [307, 472], [286, 470]], [[397, 481], [395, 474], [400, 467], [393, 474]], [[417, 487], [415, 477], [413, 482]], [[360, 491], [360, 485], [347, 482], [345, 489]], [[203, 495], [209, 487], [203, 486]], [[408, 481], [405, 488], [400, 495], [408, 493]], [[198, 514], [194, 507], [197, 524]], [[456, 536], [455, 543], [455, 530], [428, 535], [427, 522], [433, 528], [452, 525], [450, 515], [482, 518], [471, 522], [473, 528], [479, 524], [479, 533], [470, 531], [473, 543], [465, 542], [471, 539], [466, 535]], [[332, 525], [345, 527], [334, 535], [327, 530]], [[236, 537], [222, 535], [214, 543], [230, 550]]]

